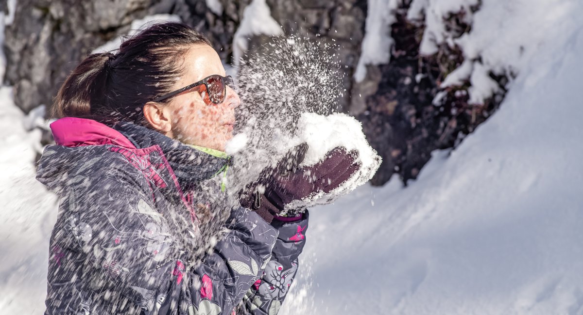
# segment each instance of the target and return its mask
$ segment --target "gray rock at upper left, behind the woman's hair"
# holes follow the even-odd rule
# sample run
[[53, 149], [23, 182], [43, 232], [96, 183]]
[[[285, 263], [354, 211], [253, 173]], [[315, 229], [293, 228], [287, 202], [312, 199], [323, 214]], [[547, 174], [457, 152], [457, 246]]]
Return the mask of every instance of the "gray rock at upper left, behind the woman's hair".
[[[24, 112], [50, 105], [59, 84], [93, 48], [141, 17], [153, 0], [22, 0], [6, 28], [6, 83]], [[126, 28], [127, 29], [127, 28]], [[121, 31], [121, 30], [120, 30]]]

